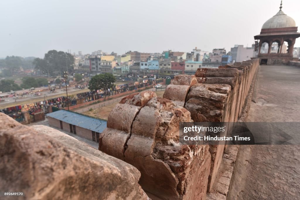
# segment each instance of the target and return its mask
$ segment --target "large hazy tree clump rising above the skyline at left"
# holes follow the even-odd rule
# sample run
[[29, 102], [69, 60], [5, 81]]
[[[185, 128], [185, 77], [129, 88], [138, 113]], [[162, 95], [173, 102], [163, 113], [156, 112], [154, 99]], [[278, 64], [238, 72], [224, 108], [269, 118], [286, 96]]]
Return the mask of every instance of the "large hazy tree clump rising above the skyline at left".
[[51, 50], [45, 54], [44, 59], [36, 58], [33, 61], [35, 69], [40, 70], [44, 74], [49, 72], [50, 75], [54, 75], [54, 72], [61, 74], [64, 71], [71, 73], [74, 70], [74, 56], [63, 52]]

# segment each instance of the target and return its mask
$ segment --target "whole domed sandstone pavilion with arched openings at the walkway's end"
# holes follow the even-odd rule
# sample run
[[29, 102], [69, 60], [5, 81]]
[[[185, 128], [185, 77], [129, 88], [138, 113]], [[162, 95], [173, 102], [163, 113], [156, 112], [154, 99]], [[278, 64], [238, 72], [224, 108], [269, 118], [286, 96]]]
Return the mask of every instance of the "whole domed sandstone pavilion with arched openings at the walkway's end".
[[259, 52], [261, 64], [281, 65], [293, 59], [293, 48], [296, 38], [300, 37], [297, 32], [296, 22], [280, 10], [263, 25], [259, 35], [254, 36], [259, 40]]

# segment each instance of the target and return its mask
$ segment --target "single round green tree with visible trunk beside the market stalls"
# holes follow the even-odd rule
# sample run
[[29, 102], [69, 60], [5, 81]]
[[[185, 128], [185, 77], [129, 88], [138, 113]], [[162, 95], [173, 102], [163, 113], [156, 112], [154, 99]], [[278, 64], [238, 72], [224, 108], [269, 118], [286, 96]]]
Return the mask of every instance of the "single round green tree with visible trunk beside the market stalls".
[[104, 90], [105, 100], [107, 91], [108, 89], [112, 89], [114, 87], [114, 82], [116, 82], [116, 78], [113, 76], [113, 74], [98, 74], [91, 78], [91, 81], [88, 83], [88, 89], [90, 89], [91, 91]]

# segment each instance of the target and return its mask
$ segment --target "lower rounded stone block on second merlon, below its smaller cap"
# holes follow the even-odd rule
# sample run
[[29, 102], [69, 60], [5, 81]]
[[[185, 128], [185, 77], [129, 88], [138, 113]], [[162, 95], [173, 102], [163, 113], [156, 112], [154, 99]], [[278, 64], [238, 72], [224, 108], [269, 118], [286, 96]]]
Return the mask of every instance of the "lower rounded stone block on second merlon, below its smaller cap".
[[168, 85], [163, 97], [166, 99], [170, 99], [176, 105], [183, 107], [189, 89], [190, 86], [187, 85]]

